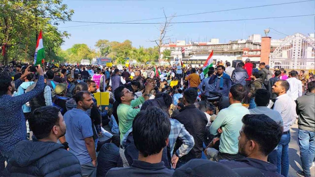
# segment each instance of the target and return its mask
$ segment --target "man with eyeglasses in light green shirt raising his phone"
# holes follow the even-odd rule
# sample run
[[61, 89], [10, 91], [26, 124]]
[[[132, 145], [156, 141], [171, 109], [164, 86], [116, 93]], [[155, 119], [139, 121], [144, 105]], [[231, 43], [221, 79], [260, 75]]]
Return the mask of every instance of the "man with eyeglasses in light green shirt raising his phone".
[[[119, 86], [115, 89], [115, 100], [118, 101], [117, 117], [119, 122], [120, 140], [123, 140], [125, 133], [132, 127], [132, 121], [140, 112], [140, 108], [135, 109], [136, 106], [142, 104], [145, 100], [149, 100], [150, 91], [153, 88], [154, 82], [151, 81], [146, 85], [145, 91], [138, 99], [134, 100], [134, 94], [128, 88]], [[120, 142], [122, 144], [122, 142]], [[123, 160], [123, 166], [128, 167], [128, 161], [124, 155], [123, 146], [120, 146], [119, 154]]]

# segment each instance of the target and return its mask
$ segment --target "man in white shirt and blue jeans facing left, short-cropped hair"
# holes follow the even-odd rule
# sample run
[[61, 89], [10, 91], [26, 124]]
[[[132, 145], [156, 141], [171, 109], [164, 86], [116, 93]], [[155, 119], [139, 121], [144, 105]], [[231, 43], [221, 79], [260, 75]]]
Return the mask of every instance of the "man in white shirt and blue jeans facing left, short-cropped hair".
[[283, 120], [283, 134], [277, 150], [277, 172], [283, 176], [287, 176], [289, 172], [290, 126], [297, 118], [295, 101], [287, 94], [289, 87], [286, 80], [278, 80], [272, 86], [272, 93], [278, 96], [273, 110], [278, 111]]

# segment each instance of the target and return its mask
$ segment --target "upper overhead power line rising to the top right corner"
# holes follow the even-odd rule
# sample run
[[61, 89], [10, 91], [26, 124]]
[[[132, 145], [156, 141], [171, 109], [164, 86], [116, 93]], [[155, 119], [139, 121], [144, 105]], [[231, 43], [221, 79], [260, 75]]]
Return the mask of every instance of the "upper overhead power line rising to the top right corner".
[[[252, 7], [244, 7], [244, 8], [236, 8], [236, 9], [217, 10], [217, 11], [201, 12], [201, 13], [195, 13], [195, 14], [183, 14], [183, 15], [168, 16], [166, 18], [181, 17], [181, 16], [188, 16], [188, 15], [198, 15], [198, 14], [208, 14], [208, 13], [215, 13], [215, 12], [225, 12], [225, 11], [241, 10], [241, 9], [251, 9], [251, 8], [257, 8], [257, 7], [267, 7], [267, 6], [276, 6], [276, 5], [293, 4], [293, 3], [303, 3], [303, 2], [309, 2], [309, 1], [314, 1], [314, 0], [295, 1], [295, 2], [290, 2], [290, 3], [268, 4], [268, 5], [252, 6]], [[120, 22], [115, 22], [115, 23], [144, 21], [144, 20], [156, 20], [156, 19], [164, 19], [164, 18], [165, 17], [142, 19], [142, 20], [129, 20], [129, 21], [120, 21]], [[101, 25], [101, 24], [109, 24], [110, 23], [110, 22], [108, 22], [108, 23], [101, 23], [101, 22], [84, 22], [84, 21], [70, 21], [70, 20], [63, 20], [63, 21], [66, 21], [66, 22], [80, 22], [80, 23], [99, 23], [99, 24], [81, 25], [81, 26], [92, 26], [92, 25]], [[79, 27], [79, 26], [66, 26], [66, 27], [62, 27], [62, 28], [68, 28], [68, 27]]]

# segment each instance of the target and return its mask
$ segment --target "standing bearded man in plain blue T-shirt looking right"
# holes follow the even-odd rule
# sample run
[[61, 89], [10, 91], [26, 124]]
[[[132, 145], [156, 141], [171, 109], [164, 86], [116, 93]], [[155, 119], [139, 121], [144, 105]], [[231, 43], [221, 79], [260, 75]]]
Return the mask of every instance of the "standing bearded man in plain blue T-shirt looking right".
[[93, 140], [92, 121], [87, 114], [94, 101], [88, 91], [76, 94], [77, 108], [64, 115], [67, 126], [66, 141], [72, 152], [80, 161], [82, 176], [96, 176], [96, 151]]

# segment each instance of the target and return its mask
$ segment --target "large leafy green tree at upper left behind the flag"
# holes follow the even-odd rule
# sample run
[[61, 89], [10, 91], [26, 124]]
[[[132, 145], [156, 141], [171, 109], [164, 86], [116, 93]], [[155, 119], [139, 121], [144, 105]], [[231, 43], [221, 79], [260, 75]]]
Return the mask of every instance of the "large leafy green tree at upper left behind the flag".
[[5, 64], [13, 58], [33, 60], [41, 29], [46, 60], [55, 58], [64, 38], [69, 36], [55, 25], [59, 25], [57, 21], [71, 20], [73, 13], [62, 0], [0, 1], [0, 45], [5, 45], [7, 51], [0, 59]]

